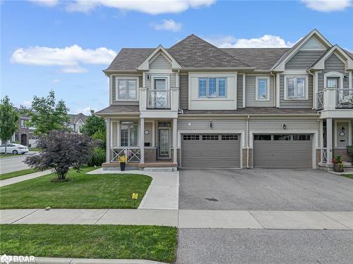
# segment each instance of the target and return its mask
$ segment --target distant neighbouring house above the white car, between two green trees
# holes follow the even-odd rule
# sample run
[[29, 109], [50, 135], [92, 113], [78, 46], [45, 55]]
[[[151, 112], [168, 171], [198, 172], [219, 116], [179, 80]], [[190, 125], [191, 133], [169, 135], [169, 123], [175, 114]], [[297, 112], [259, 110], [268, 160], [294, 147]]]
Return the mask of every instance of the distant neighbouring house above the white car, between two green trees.
[[35, 127], [29, 127], [28, 121], [30, 117], [25, 113], [20, 114], [18, 118], [18, 130], [15, 132], [13, 140], [14, 142], [19, 142], [24, 146], [35, 146], [37, 139], [35, 137], [34, 131]]

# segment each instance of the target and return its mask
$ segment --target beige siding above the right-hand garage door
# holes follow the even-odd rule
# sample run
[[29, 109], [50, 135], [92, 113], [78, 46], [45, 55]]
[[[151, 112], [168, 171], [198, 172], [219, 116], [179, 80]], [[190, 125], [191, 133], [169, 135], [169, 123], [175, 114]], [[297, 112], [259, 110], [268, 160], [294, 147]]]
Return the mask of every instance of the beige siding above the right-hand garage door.
[[[287, 129], [283, 130], [282, 124], [287, 125]], [[320, 146], [320, 122], [316, 119], [308, 118], [259, 118], [249, 120], [249, 132], [256, 132], [259, 134], [271, 133], [273, 131], [280, 131], [280, 134], [292, 134], [301, 131], [317, 132], [318, 146]], [[278, 134], [278, 133], [273, 133]], [[253, 143], [250, 142], [250, 146]]]

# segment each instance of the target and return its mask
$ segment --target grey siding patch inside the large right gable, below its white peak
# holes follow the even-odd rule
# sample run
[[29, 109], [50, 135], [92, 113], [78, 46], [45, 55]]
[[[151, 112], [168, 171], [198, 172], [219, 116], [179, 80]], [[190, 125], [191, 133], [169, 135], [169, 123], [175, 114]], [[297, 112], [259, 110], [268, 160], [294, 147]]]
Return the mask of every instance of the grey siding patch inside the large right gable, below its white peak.
[[306, 70], [325, 51], [298, 51], [285, 65], [286, 70], [301, 69]]

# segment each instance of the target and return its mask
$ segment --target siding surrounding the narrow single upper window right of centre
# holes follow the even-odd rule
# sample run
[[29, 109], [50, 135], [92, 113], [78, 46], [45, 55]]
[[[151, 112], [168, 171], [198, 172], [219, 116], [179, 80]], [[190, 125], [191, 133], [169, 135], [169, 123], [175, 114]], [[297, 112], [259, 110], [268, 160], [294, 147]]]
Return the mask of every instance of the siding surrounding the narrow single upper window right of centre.
[[275, 85], [273, 76], [269, 77], [270, 101], [256, 101], [256, 76], [246, 76], [246, 106], [275, 106]]

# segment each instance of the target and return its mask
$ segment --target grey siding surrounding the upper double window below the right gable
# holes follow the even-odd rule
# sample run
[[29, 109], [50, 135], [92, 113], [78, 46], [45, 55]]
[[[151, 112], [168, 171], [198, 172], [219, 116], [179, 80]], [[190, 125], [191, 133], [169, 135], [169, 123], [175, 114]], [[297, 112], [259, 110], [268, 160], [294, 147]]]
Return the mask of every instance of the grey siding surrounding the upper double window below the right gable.
[[280, 75], [281, 108], [313, 108], [313, 76], [308, 75], [308, 100], [285, 100], [285, 75]]

